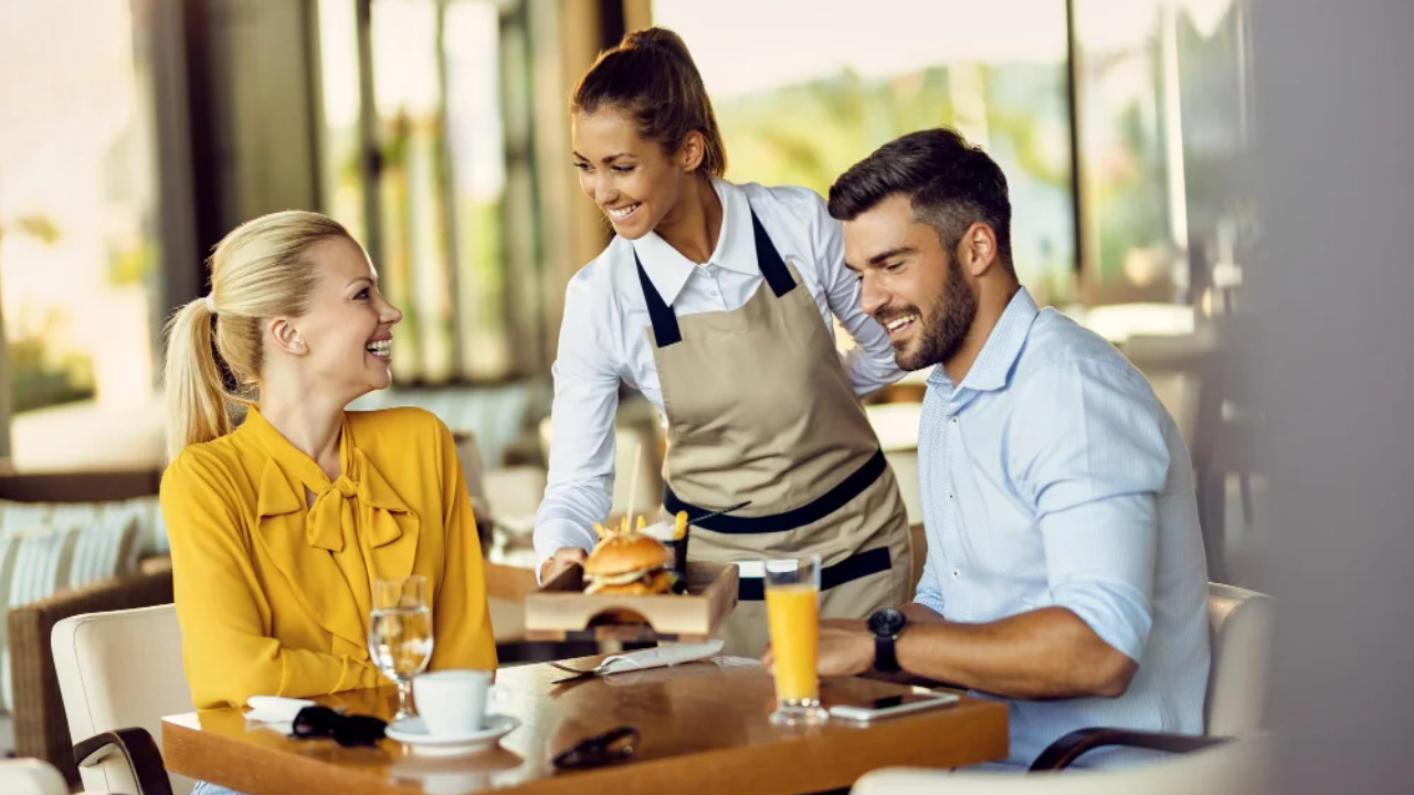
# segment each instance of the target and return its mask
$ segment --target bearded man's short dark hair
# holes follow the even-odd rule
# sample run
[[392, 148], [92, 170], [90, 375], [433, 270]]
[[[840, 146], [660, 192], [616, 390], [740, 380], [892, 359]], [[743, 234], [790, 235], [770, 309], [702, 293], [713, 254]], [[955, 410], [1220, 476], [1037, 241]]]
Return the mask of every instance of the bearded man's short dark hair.
[[830, 215], [853, 221], [892, 195], [906, 195], [913, 216], [937, 229], [953, 256], [977, 221], [997, 235], [997, 259], [1012, 274], [1007, 175], [980, 147], [947, 127], [889, 141], [830, 185]]

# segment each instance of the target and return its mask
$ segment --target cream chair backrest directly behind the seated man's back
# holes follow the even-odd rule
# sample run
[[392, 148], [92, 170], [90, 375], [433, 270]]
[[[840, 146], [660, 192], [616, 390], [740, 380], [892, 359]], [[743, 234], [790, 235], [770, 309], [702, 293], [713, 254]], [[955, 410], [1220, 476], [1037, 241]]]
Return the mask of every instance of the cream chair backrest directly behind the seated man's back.
[[1208, 673], [1206, 726], [1213, 736], [1249, 736], [1261, 730], [1271, 672], [1275, 600], [1267, 594], [1208, 584], [1212, 668]]

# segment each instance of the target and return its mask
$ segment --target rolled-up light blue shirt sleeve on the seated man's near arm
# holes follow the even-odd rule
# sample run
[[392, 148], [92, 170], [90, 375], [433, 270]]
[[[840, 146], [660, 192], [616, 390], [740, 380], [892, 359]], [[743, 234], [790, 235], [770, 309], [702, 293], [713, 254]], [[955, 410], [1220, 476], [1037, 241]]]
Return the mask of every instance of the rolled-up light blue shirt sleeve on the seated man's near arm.
[[1035, 506], [1051, 603], [1138, 661], [1154, 624], [1162, 409], [1133, 372], [1049, 365], [1018, 385], [1007, 444]]

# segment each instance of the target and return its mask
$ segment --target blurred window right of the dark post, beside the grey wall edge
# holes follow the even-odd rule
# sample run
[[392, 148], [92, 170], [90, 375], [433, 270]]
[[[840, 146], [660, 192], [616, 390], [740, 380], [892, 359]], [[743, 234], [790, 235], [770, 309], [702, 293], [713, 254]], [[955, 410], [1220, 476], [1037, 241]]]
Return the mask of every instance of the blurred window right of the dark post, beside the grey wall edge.
[[1073, 3], [1086, 300], [1200, 303], [1250, 209], [1241, 6]]

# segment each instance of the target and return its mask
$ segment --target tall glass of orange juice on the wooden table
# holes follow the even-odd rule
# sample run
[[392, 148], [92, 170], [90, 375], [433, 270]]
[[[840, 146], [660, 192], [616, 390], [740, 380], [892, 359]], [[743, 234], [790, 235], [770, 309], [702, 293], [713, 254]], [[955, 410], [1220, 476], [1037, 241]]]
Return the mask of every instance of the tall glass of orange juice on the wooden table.
[[766, 560], [766, 621], [776, 666], [771, 723], [823, 723], [820, 679], [820, 559]]

